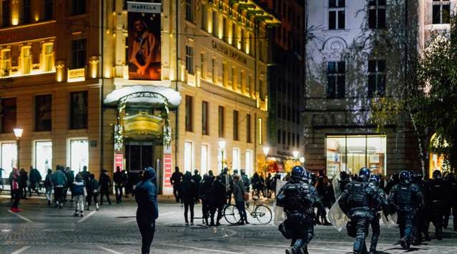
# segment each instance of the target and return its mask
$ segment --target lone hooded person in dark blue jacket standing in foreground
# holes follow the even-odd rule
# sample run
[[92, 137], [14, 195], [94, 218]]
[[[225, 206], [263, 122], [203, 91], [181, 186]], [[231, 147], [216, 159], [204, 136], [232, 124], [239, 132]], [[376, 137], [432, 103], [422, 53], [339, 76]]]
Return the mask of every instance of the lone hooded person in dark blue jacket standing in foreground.
[[137, 225], [141, 233], [141, 253], [149, 254], [155, 232], [155, 220], [158, 217], [157, 205], [157, 175], [152, 167], [143, 172], [143, 177], [135, 188], [137, 201]]

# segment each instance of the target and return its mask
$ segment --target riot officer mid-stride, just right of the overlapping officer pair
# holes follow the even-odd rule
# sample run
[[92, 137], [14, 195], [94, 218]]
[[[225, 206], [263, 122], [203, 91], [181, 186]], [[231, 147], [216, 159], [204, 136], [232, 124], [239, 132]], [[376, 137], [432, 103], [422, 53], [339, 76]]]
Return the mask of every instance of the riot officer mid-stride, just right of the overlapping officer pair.
[[411, 183], [410, 172], [400, 172], [399, 181], [390, 190], [389, 202], [397, 210], [402, 247], [409, 250], [414, 218], [417, 210], [423, 206], [423, 197], [417, 185]]

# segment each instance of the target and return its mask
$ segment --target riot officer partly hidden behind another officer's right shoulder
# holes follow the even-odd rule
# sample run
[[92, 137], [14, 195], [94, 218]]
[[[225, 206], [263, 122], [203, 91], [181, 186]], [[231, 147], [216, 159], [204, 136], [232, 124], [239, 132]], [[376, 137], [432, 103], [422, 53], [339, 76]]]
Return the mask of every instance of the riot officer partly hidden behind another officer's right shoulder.
[[379, 218], [380, 214], [379, 211], [383, 211], [384, 214], [388, 214], [388, 202], [384, 190], [380, 188], [379, 184], [381, 179], [379, 176], [375, 174], [371, 174], [369, 180], [370, 189], [376, 190], [375, 202], [374, 206], [371, 207], [369, 213], [369, 223], [371, 225], [371, 230], [373, 234], [371, 236], [371, 244], [370, 244], [370, 253], [376, 253], [376, 246], [378, 245], [378, 238], [381, 234], [380, 226], [379, 226]]

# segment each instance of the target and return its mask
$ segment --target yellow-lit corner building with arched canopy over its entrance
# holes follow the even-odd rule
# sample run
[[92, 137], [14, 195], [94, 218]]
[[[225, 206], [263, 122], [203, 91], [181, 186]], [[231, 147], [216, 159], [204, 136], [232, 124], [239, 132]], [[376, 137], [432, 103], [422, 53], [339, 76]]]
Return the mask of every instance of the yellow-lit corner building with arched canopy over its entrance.
[[[137, 2], [2, 2], [7, 175], [17, 155], [21, 168], [43, 176], [56, 165], [87, 165], [96, 176], [153, 166], [167, 194], [175, 166], [202, 175], [257, 169], [267, 133], [267, 30], [279, 21], [250, 1]], [[133, 38], [130, 11], [152, 24], [147, 78], [132, 67], [135, 39], [146, 37]], [[14, 128], [23, 129], [19, 154]]]

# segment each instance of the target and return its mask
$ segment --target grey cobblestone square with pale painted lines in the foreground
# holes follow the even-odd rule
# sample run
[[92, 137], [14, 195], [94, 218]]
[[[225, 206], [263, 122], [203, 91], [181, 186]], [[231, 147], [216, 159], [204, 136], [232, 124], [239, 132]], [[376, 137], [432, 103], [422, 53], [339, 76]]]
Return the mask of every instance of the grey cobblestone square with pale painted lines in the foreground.
[[[85, 211], [84, 217], [72, 216], [71, 203], [63, 209], [53, 208], [46, 206], [41, 197], [21, 200], [20, 207], [23, 212], [9, 212], [9, 197], [0, 196], [1, 254], [141, 252], [136, 205], [131, 198], [121, 204], [104, 205], [100, 211]], [[256, 225], [251, 219], [248, 226], [230, 226], [222, 219], [222, 226], [206, 228], [198, 225], [201, 219], [195, 219], [195, 226], [185, 227], [183, 208], [164, 198], [159, 203], [159, 211], [152, 253], [274, 254], [284, 253], [288, 244], [273, 224]], [[200, 205], [195, 207], [195, 216], [201, 217]], [[442, 241], [432, 239], [412, 246], [411, 253], [457, 253], [457, 232], [445, 230], [444, 236]], [[378, 250], [381, 254], [404, 253], [398, 240], [397, 228], [383, 227]], [[352, 241], [353, 238], [333, 227], [316, 226], [309, 252], [350, 253]]]

